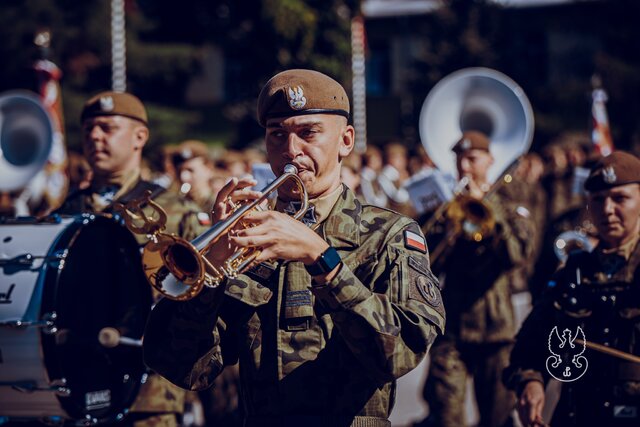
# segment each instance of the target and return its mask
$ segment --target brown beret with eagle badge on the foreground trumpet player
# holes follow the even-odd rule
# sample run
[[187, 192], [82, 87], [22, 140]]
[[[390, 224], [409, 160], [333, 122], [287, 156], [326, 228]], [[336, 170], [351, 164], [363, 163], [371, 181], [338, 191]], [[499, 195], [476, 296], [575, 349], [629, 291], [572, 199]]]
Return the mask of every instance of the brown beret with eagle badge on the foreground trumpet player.
[[340, 83], [312, 70], [287, 70], [267, 82], [258, 97], [258, 123], [272, 117], [338, 114], [349, 118], [349, 98]]

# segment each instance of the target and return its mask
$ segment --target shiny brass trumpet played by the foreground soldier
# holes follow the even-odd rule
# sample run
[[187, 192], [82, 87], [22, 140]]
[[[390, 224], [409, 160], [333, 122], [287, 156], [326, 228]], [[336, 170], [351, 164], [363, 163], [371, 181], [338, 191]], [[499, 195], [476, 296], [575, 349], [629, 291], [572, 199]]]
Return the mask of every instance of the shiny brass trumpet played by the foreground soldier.
[[[231, 202], [231, 215], [192, 241], [162, 232], [166, 213], [149, 199], [148, 194], [126, 206], [118, 206], [129, 230], [150, 236], [149, 243], [144, 247], [142, 264], [151, 286], [169, 299], [186, 301], [198, 295], [204, 287], [216, 288], [225, 278], [233, 279], [248, 269], [262, 251], [260, 247], [240, 248], [217, 264], [211, 262], [207, 254], [236, 225], [250, 227], [242, 218], [254, 210], [262, 210], [260, 204], [288, 180], [295, 182], [300, 194], [301, 206], [293, 215], [294, 219], [300, 220], [307, 211], [309, 199], [297, 173], [295, 166], [286, 165], [284, 173], [262, 189], [260, 198], [251, 202]], [[144, 214], [141, 207], [145, 205], [156, 211], [159, 219]], [[140, 220], [144, 222], [143, 225], [139, 225]]]

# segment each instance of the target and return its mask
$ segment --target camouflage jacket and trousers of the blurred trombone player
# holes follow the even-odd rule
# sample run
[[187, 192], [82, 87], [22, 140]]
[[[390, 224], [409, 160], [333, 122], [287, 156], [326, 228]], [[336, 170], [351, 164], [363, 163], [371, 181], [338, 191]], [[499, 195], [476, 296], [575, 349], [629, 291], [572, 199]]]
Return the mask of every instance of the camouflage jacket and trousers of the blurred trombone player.
[[[484, 200], [496, 221], [492, 236], [476, 243], [458, 237], [434, 260], [433, 271], [443, 278], [447, 304], [447, 333], [431, 350], [424, 397], [428, 425], [463, 426], [467, 378], [474, 378], [480, 425], [500, 426], [515, 403], [502, 384], [515, 336], [509, 273], [530, 251], [531, 222], [516, 214], [517, 206], [500, 193]], [[427, 236], [431, 250], [447, 236], [440, 221]]]

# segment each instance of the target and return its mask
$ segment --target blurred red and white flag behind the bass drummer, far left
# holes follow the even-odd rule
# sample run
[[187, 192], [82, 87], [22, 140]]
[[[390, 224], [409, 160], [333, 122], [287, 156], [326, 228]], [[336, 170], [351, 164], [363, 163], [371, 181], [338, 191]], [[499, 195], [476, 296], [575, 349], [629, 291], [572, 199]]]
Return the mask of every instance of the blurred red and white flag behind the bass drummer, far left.
[[37, 213], [42, 214], [48, 213], [62, 204], [67, 195], [69, 176], [67, 174], [68, 160], [60, 88], [62, 71], [47, 59], [50, 43], [49, 31], [45, 30], [36, 34], [34, 42], [40, 47], [43, 58], [36, 61], [33, 66], [38, 77], [38, 93], [45, 108], [49, 111], [54, 126], [51, 154], [44, 169], [32, 183], [40, 188], [31, 189], [33, 195], [38, 193], [42, 195], [40, 203], [36, 203], [40, 205], [37, 209], [40, 212]]

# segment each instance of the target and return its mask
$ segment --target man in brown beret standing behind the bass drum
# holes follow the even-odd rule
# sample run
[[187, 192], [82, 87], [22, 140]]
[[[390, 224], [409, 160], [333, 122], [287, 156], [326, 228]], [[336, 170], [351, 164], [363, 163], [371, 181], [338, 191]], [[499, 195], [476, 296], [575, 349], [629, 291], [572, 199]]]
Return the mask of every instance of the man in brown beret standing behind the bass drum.
[[[142, 149], [149, 139], [149, 128], [146, 109], [136, 96], [99, 93], [85, 103], [81, 122], [82, 148], [91, 166], [91, 183], [88, 188], [72, 192], [56, 213], [113, 214], [116, 202], [127, 203], [150, 191], [151, 198], [167, 212], [168, 232], [191, 239], [206, 229], [196, 205], [141, 179]], [[151, 215], [148, 208], [145, 212]], [[147, 240], [136, 237], [140, 243]], [[136, 427], [176, 426], [183, 412], [184, 396], [183, 390], [151, 375], [129, 408], [125, 422]]]

